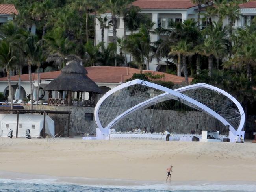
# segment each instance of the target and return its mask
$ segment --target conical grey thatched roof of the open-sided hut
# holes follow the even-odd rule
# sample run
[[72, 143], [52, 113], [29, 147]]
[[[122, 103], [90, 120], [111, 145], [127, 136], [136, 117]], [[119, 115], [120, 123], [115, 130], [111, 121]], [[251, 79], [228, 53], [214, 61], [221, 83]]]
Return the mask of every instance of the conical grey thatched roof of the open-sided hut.
[[100, 88], [87, 77], [87, 70], [76, 61], [66, 65], [61, 74], [45, 86], [45, 90], [101, 93]]

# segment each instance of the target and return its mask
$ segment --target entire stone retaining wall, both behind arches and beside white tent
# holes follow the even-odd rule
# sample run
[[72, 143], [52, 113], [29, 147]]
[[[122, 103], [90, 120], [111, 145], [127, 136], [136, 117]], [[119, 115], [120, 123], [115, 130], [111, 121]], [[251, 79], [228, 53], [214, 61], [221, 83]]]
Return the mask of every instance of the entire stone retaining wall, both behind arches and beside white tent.
[[[24, 106], [29, 109], [29, 106]], [[94, 108], [90, 107], [67, 107], [67, 106], [34, 106], [38, 110], [71, 111], [70, 115], [70, 135], [81, 135], [84, 133], [95, 134], [96, 124], [93, 121], [85, 120], [85, 113], [94, 113]], [[55, 131], [61, 131], [63, 136], [67, 135], [67, 114], [49, 114], [55, 122]], [[254, 116], [247, 122], [254, 122]], [[198, 125], [197, 125], [198, 124]], [[135, 112], [125, 117], [123, 120], [113, 126], [117, 131], [127, 131], [136, 127], [147, 127], [147, 130], [154, 128], [157, 132], [163, 132], [165, 129], [173, 133], [190, 133], [195, 129], [198, 133], [202, 130], [217, 129], [221, 133], [227, 133], [226, 127], [217, 119], [208, 114], [196, 111], [169, 111], [145, 109]], [[253, 123], [247, 123], [247, 127], [254, 127]], [[253, 130], [253, 128], [247, 128]], [[247, 135], [247, 134], [246, 134]]]

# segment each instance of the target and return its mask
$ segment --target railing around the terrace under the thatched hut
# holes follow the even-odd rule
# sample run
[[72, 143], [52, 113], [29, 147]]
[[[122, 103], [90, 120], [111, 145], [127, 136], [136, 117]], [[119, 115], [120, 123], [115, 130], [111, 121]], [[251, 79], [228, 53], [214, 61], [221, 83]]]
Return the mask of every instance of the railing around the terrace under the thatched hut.
[[[95, 107], [94, 100], [71, 100], [71, 106], [79, 106], [79, 107]], [[48, 105], [56, 105], [56, 106], [69, 106], [68, 99], [48, 99]]]

